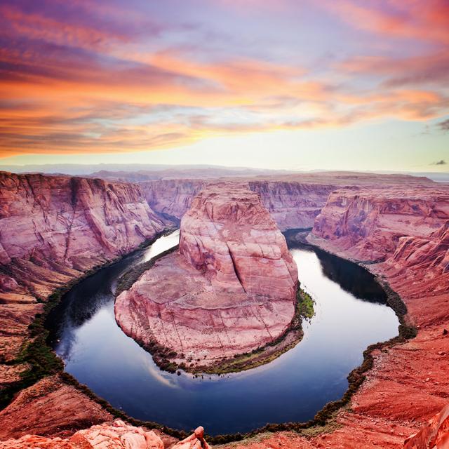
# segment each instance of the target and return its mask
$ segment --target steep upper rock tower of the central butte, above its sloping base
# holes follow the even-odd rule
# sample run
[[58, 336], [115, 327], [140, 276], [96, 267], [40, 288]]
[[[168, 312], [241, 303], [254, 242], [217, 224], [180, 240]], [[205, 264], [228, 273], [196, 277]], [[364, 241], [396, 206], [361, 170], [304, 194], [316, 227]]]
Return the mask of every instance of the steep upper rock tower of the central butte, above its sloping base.
[[297, 268], [286, 239], [246, 186], [213, 185], [196, 196], [182, 217], [180, 253], [215, 288], [295, 296]]

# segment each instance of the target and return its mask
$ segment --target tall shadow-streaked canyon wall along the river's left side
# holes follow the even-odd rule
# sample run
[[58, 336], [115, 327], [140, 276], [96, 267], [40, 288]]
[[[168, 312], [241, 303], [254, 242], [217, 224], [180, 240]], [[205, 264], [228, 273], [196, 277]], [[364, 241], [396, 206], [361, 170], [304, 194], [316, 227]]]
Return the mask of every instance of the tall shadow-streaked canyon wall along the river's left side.
[[0, 388], [48, 295], [163, 229], [138, 185], [0, 172]]

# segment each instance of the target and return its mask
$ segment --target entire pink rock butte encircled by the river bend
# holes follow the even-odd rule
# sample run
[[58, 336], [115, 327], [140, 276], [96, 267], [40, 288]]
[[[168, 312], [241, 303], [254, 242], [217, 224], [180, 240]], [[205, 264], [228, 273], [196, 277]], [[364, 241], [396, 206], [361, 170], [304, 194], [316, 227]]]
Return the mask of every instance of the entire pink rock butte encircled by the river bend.
[[260, 196], [247, 185], [217, 184], [182, 217], [179, 252], [121, 293], [115, 314], [135, 340], [156, 340], [177, 352], [176, 363], [204, 366], [284, 333], [296, 288], [296, 264]]

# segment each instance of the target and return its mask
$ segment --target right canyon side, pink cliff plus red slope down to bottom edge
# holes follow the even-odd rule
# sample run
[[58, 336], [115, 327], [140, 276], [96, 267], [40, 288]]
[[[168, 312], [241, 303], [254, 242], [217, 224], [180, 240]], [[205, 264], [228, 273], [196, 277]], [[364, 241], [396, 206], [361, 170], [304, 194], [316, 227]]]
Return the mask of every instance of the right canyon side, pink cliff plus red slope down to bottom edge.
[[[349, 259], [384, 259], [366, 267], [401, 295], [418, 334], [388, 351], [374, 351], [374, 368], [352, 398], [351, 410], [338, 413], [337, 430], [308, 440], [275, 434], [263, 445], [401, 448], [448, 403], [448, 194], [443, 185], [331, 194], [309, 241]], [[263, 446], [245, 445], [258, 447]]]

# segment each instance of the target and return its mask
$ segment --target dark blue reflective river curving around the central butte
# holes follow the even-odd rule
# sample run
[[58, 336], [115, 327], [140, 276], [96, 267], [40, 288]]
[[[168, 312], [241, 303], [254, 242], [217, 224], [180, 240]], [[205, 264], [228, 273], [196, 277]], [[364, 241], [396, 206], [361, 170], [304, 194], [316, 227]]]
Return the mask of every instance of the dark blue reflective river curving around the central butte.
[[231, 434], [267, 422], [304, 422], [347, 390], [347, 375], [370, 344], [398, 335], [398, 319], [374, 277], [356, 264], [311, 248], [290, 251], [315, 315], [304, 338], [265, 366], [194, 378], [159, 370], [151, 354], [114, 318], [123, 272], [177, 245], [179, 231], [81, 281], [48, 318], [65, 370], [115, 408], [140, 420], [208, 434]]

